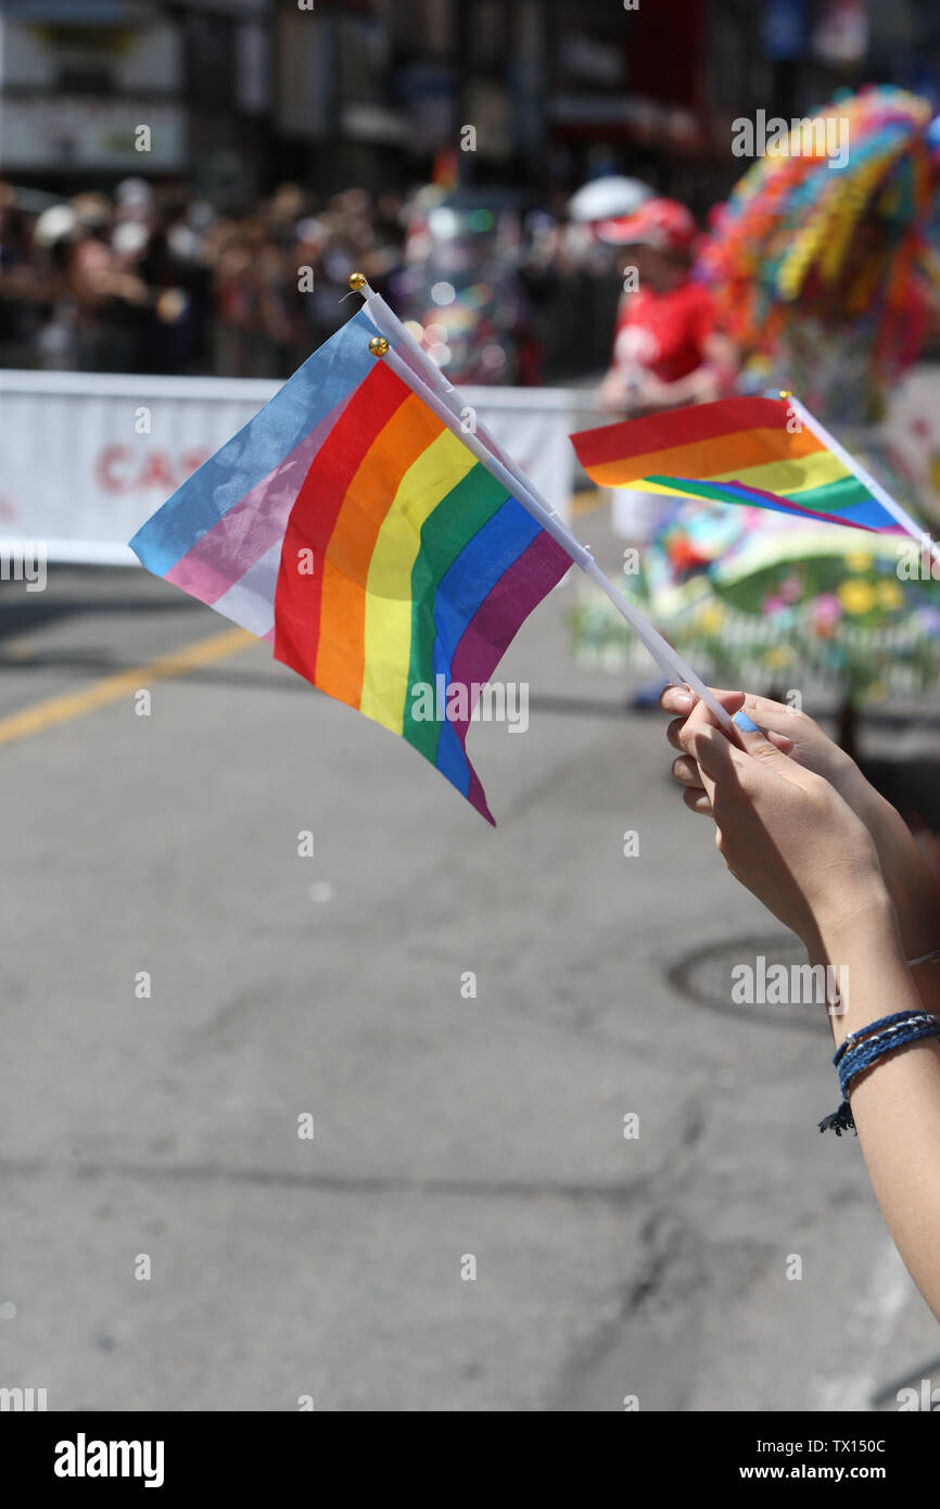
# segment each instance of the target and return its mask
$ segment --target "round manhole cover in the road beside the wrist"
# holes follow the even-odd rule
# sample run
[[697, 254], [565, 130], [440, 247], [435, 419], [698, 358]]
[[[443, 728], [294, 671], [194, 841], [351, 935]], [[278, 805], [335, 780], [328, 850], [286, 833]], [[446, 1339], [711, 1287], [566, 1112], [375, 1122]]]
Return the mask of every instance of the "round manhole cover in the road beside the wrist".
[[833, 996], [839, 988], [824, 969], [810, 970], [806, 949], [789, 933], [709, 943], [680, 958], [665, 978], [697, 1007], [809, 1032], [828, 1031], [827, 990]]

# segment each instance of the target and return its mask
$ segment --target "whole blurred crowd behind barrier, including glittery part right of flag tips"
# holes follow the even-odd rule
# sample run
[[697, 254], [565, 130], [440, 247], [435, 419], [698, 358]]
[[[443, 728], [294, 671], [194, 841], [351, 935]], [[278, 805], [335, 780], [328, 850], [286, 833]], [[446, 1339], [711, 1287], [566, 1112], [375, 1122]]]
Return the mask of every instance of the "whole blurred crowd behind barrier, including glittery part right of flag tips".
[[[403, 315], [445, 321], [454, 379], [537, 383], [604, 365], [616, 275], [587, 228], [563, 207], [477, 208], [453, 216], [442, 258], [429, 232], [442, 204], [441, 189], [318, 202], [288, 183], [232, 216], [142, 178], [68, 199], [0, 184], [0, 365], [287, 377], [352, 312], [339, 300], [353, 269]], [[450, 311], [432, 288], [450, 290], [435, 294]]]

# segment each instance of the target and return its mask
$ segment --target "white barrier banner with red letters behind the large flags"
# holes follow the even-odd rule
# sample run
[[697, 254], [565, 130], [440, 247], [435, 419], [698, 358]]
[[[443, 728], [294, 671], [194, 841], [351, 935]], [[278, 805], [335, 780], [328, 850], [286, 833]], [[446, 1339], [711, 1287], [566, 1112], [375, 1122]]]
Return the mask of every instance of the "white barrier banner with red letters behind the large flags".
[[[0, 548], [136, 566], [127, 540], [258, 412], [276, 382], [0, 371]], [[496, 441], [567, 518], [569, 433], [584, 392], [462, 388]]]

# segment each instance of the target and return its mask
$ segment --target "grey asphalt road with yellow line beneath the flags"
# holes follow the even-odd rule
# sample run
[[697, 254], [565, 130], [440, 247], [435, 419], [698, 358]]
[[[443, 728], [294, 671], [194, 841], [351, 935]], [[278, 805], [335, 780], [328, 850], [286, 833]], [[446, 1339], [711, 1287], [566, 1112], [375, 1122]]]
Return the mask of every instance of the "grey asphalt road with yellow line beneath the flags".
[[670, 984], [777, 930], [664, 720], [573, 664], [567, 593], [498, 673], [528, 730], [471, 733], [493, 831], [143, 572], [5, 584], [0, 1385], [845, 1411], [935, 1369], [859, 1145], [816, 1130], [822, 1023]]

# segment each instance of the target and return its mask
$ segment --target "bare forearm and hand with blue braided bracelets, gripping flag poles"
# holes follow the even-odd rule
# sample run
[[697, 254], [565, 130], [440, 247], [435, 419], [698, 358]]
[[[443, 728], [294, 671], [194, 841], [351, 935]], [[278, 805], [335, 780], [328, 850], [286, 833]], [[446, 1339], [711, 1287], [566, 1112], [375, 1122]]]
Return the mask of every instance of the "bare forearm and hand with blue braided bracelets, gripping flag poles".
[[[677, 742], [697, 770], [699, 791], [687, 786], [687, 804], [703, 810], [702, 801], [708, 803], [730, 872], [803, 939], [813, 963], [831, 964], [837, 976], [848, 972], [845, 1011], [830, 1017], [834, 1041], [893, 1013], [923, 1010], [907, 949], [917, 937], [935, 946], [935, 913], [896, 827], [895, 818], [901, 819], [890, 816], [893, 809], [875, 803], [871, 818], [886, 845], [889, 869], [896, 866], [898, 884], [907, 887], [914, 908], [904, 937], [895, 881], [886, 880], [875, 834], [830, 780], [797, 764], [759, 730], [741, 733], [741, 747], [732, 744], [702, 703], [682, 721]], [[846, 795], [862, 801], [865, 794], [851, 770], [840, 774], [848, 776]], [[913, 839], [910, 844], [922, 865]], [[837, 1097], [834, 1085], [833, 1105]], [[884, 1219], [940, 1319], [937, 1040], [884, 1055], [854, 1080], [849, 1100]]]

